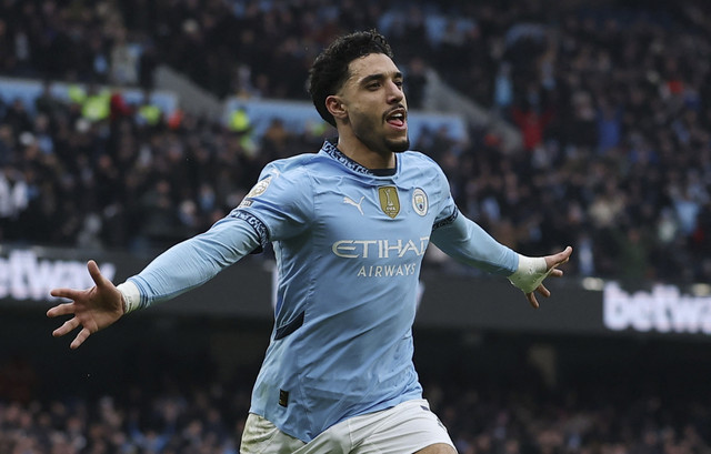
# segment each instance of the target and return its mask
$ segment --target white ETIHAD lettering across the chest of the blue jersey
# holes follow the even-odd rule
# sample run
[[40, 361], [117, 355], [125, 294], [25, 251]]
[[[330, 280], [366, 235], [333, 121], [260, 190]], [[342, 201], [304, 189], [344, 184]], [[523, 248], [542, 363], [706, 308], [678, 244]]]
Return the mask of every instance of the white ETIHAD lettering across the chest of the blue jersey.
[[333, 243], [331, 251], [343, 259], [389, 259], [405, 254], [424, 255], [429, 236], [418, 240], [341, 240]]

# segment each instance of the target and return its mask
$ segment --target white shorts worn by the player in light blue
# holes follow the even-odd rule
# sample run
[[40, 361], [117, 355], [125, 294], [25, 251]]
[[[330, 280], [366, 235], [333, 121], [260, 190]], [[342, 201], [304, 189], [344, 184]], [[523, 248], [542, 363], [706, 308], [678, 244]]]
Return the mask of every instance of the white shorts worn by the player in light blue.
[[402, 454], [437, 443], [454, 447], [447, 428], [422, 398], [341, 421], [308, 444], [250, 413], [240, 454]]

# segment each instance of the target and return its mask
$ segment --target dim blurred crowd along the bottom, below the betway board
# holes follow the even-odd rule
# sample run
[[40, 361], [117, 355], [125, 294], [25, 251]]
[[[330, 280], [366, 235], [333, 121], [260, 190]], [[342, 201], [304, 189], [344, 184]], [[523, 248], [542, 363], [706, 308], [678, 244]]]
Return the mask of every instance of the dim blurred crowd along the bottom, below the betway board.
[[[237, 454], [250, 387], [190, 383], [167, 381], [151, 392], [127, 386], [111, 396], [0, 400], [0, 452]], [[669, 400], [603, 386], [555, 397], [533, 387], [530, 380], [512, 389], [438, 381], [425, 386], [425, 397], [461, 454], [711, 453], [708, 395]]]

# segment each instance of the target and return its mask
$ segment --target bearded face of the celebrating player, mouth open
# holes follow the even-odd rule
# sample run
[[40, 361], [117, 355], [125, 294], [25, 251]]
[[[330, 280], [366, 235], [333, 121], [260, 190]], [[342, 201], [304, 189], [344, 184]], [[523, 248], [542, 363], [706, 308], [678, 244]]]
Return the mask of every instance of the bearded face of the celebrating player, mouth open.
[[383, 53], [370, 53], [351, 61], [349, 70], [338, 97], [353, 134], [379, 153], [408, 150], [408, 103], [398, 67]]

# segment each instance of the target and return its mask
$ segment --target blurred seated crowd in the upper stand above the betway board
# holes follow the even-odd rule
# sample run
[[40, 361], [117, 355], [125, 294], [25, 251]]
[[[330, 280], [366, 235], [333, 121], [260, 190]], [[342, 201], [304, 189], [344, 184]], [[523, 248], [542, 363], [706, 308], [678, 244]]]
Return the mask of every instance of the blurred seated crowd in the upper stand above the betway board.
[[[425, 131], [412, 147], [500, 241], [527, 254], [571, 244], [570, 272], [583, 276], [711, 280], [703, 1], [9, 0], [0, 73], [150, 90], [168, 64], [218, 97], [306, 99], [318, 51], [372, 27], [395, 51], [412, 108], [427, 109], [431, 68], [519, 128], [513, 151], [487, 125], [467, 142]], [[0, 105], [3, 242], [162, 249], [228, 213], [266, 162], [324, 139], [279, 122], [252, 138], [184, 112], [147, 121], [120, 99], [86, 121], [48, 93]]]

